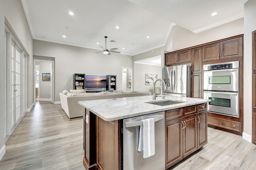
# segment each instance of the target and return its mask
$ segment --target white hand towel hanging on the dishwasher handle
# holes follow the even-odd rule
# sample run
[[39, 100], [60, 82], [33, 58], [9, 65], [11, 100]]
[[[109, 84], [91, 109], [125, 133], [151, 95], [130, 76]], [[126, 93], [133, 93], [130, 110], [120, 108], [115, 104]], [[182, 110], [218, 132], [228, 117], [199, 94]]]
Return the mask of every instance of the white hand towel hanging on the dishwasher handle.
[[[143, 142], [142, 142], [143, 141]], [[154, 118], [142, 120], [140, 126], [138, 151], [143, 150], [143, 158], [155, 154], [155, 122]]]

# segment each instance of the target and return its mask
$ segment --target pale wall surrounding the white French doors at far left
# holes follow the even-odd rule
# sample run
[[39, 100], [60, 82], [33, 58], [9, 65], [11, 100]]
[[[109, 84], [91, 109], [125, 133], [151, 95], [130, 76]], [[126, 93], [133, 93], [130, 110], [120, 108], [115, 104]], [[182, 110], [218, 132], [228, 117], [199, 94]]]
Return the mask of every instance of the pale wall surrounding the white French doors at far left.
[[[33, 104], [33, 46], [32, 35], [20, 0], [0, 0], [0, 79], [4, 80], [4, 25], [28, 54], [28, 106]], [[0, 94], [4, 94], [4, 82], [0, 82]], [[4, 110], [4, 95], [0, 95], [0, 110]], [[4, 147], [4, 111], [0, 112], [0, 150]], [[1, 153], [0, 153], [1, 154]]]

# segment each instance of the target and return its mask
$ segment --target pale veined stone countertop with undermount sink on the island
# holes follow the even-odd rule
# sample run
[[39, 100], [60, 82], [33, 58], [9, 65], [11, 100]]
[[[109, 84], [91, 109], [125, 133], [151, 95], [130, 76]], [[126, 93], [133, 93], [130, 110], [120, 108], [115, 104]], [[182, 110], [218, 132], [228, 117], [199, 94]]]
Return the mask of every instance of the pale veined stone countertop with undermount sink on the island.
[[[137, 96], [129, 98], [113, 98], [113, 99], [100, 99], [100, 100], [86, 100], [79, 101], [78, 104], [90, 110], [92, 113], [105, 121], [114, 121], [146, 115], [149, 113], [156, 113], [179, 107], [192, 106], [209, 102], [207, 99], [200, 98], [187, 98], [182, 96], [165, 96], [165, 100], [175, 100], [184, 103], [172, 104], [167, 106], [158, 106], [148, 104], [145, 102], [152, 102], [152, 96]], [[156, 101], [163, 101], [162, 97], [156, 97]]]

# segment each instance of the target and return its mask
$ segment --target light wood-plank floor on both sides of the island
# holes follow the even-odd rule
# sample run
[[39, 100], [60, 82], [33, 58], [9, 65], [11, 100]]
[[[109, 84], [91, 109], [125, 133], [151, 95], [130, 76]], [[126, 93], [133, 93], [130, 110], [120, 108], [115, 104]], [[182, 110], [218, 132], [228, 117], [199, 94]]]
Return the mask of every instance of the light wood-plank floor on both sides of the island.
[[[83, 119], [68, 119], [60, 104], [40, 102], [6, 142], [0, 170], [84, 170]], [[255, 170], [256, 145], [208, 128], [208, 144], [175, 170]]]

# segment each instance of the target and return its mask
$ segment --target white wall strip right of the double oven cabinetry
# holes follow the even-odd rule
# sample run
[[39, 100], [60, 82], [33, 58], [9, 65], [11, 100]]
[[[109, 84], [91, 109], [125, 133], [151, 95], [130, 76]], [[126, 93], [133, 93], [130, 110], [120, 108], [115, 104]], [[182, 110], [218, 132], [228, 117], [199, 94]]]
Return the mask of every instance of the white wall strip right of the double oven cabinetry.
[[244, 133], [250, 136], [252, 135], [252, 31], [256, 30], [255, 9], [256, 0], [249, 0], [244, 4]]

